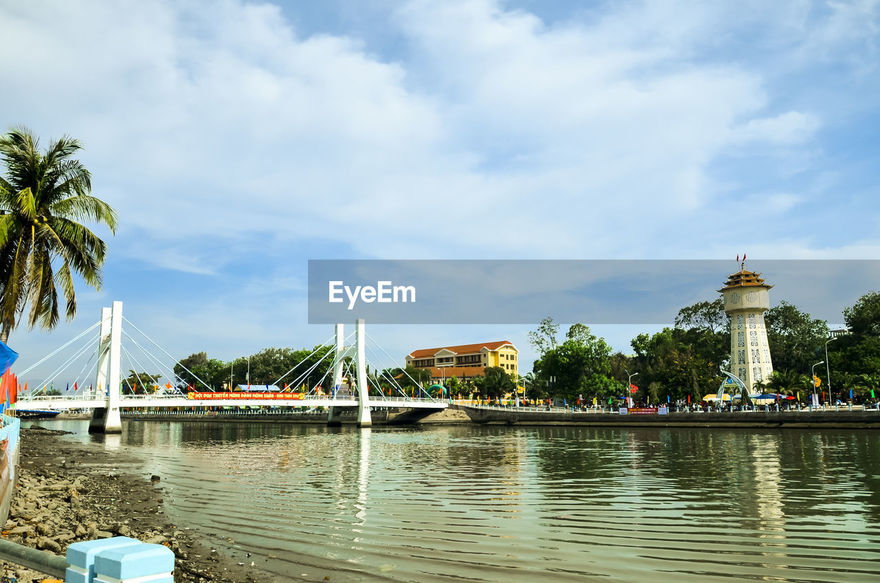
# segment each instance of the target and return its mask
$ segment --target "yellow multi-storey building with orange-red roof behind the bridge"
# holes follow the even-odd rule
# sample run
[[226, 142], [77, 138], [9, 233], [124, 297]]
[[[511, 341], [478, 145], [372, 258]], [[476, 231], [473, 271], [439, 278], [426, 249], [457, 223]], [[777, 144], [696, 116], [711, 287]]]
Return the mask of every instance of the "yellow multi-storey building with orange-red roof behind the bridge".
[[518, 375], [518, 354], [517, 347], [507, 340], [443, 346], [410, 352], [407, 366], [429, 369], [431, 380], [483, 376], [487, 366], [501, 366], [508, 374]]

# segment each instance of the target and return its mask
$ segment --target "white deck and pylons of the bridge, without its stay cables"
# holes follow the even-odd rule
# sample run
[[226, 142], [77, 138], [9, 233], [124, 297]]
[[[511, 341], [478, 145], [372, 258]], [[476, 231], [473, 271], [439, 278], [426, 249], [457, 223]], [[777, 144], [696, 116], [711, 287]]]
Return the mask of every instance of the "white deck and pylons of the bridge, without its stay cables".
[[[334, 385], [333, 395], [317, 395], [309, 393], [304, 395], [303, 399], [290, 400], [276, 400], [274, 395], [266, 396], [260, 393], [255, 393], [253, 398], [245, 399], [224, 399], [222, 396], [211, 399], [191, 399], [187, 397], [187, 395], [182, 394], [122, 395], [122, 302], [114, 301], [112, 307], [102, 308], [99, 324], [100, 333], [98, 336], [95, 390], [92, 392], [84, 391], [84, 395], [72, 397], [67, 395], [19, 395], [17, 403], [18, 408], [39, 408], [48, 410], [92, 409], [92, 421], [89, 424], [89, 432], [119, 433], [122, 431], [121, 407], [127, 409], [194, 409], [201, 407], [252, 406], [287, 408], [320, 407], [326, 408], [329, 411], [327, 417], [328, 425], [341, 424], [341, 410], [356, 408], [357, 424], [361, 427], [370, 427], [372, 424], [370, 407], [434, 410], [441, 410], [447, 407], [447, 402], [442, 399], [434, 399], [430, 397], [408, 397], [403, 394], [402, 390], [399, 391], [399, 395], [385, 395], [381, 391], [381, 395], [369, 395], [369, 377], [367, 372], [367, 361], [365, 358], [365, 351], [367, 350], [367, 344], [365, 341], [368, 335], [366, 334], [363, 319], [356, 321], [355, 343], [349, 346], [345, 345], [345, 336], [343, 334], [344, 327], [342, 324], [336, 324], [335, 351], [332, 363]], [[93, 329], [96, 326], [98, 326], [98, 324], [93, 325], [90, 329]], [[86, 332], [88, 332], [88, 330], [86, 330]], [[375, 340], [373, 342], [375, 343]], [[165, 354], [167, 355], [167, 352], [165, 352]], [[385, 354], [387, 356], [387, 353]], [[341, 387], [344, 378], [343, 366], [346, 361], [349, 363], [353, 361], [354, 374], [349, 375], [348, 377], [349, 394], [341, 395], [338, 393], [340, 393], [339, 388]], [[354, 380], [352, 380], [352, 376], [354, 376]], [[374, 374], [373, 379], [378, 381], [378, 376]], [[386, 380], [391, 380], [392, 383], [396, 384], [396, 381], [391, 378]], [[237, 394], [236, 396], [238, 395], [240, 394]]]

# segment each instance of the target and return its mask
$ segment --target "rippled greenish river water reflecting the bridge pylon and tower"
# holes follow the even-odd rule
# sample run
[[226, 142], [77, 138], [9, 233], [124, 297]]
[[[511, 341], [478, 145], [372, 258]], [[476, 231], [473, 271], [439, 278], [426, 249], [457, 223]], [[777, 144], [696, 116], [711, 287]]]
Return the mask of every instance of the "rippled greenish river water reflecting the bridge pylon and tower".
[[[65, 425], [87, 427], [53, 424]], [[132, 449], [160, 474], [179, 524], [290, 578], [333, 566], [363, 581], [880, 580], [871, 430], [127, 422], [121, 437], [83, 433], [70, 439]]]

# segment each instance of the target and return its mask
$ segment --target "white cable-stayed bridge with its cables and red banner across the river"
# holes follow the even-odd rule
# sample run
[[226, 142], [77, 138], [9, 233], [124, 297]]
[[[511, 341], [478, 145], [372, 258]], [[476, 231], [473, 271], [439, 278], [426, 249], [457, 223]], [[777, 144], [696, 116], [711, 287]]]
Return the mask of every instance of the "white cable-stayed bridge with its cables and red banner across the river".
[[[375, 360], [368, 362], [366, 358], [367, 351], [370, 351], [373, 358], [378, 359], [378, 351], [385, 354], [385, 357], [393, 359], [385, 352], [378, 343], [375, 342], [366, 333], [366, 327], [363, 320], [356, 321], [355, 332], [349, 336], [344, 335], [344, 327], [342, 324], [336, 324], [334, 336], [331, 336], [325, 343], [319, 345], [319, 348], [312, 351], [309, 357], [293, 366], [287, 373], [275, 381], [274, 384], [290, 376], [290, 387], [299, 387], [304, 381], [317, 378], [317, 382], [311, 387], [305, 387], [306, 390], [299, 393], [228, 393], [217, 392], [213, 387], [209, 387], [203, 380], [198, 379], [179, 361], [174, 360], [176, 365], [183, 367], [187, 373], [190, 373], [200, 385], [199, 392], [186, 393], [179, 387], [186, 385], [180, 377], [173, 372], [173, 368], [147, 351], [141, 342], [128, 333], [123, 328], [123, 321], [127, 324], [127, 328], [131, 328], [140, 333], [147, 342], [153, 343], [159, 351], [165, 353], [165, 357], [172, 358], [157, 343], [152, 341], [149, 336], [143, 334], [140, 328], [122, 317], [122, 302], [114, 301], [112, 307], [104, 307], [101, 310], [101, 319], [91, 328], [86, 329], [82, 334], [66, 343], [60, 349], [56, 350], [48, 357], [43, 358], [39, 362], [26, 369], [19, 376], [28, 373], [35, 366], [42, 364], [47, 358], [54, 356], [56, 353], [68, 348], [77, 340], [86, 338], [84, 345], [75, 350], [74, 355], [67, 358], [65, 362], [53, 372], [48, 379], [40, 383], [39, 388], [30, 391], [30, 394], [18, 395], [16, 406], [18, 409], [49, 409], [49, 410], [71, 410], [71, 409], [91, 409], [92, 423], [89, 425], [90, 432], [121, 432], [121, 415], [120, 408], [202, 408], [202, 407], [323, 407], [328, 410], [327, 424], [338, 425], [340, 421], [340, 413], [343, 409], [356, 408], [357, 424], [361, 427], [369, 427], [371, 422], [370, 407], [387, 407], [387, 408], [406, 408], [406, 409], [435, 409], [442, 410], [447, 406], [447, 402], [442, 399], [432, 398], [421, 387], [419, 396], [407, 395], [404, 387], [400, 382], [388, 374], [387, 368], [382, 369], [374, 365]], [[88, 338], [88, 333], [99, 328], [96, 337]], [[126, 337], [131, 347], [139, 349], [150, 365], [160, 368], [163, 376], [166, 376], [175, 382], [168, 382], [161, 385], [156, 378], [150, 378], [150, 384], [153, 387], [159, 387], [157, 394], [154, 395], [126, 395], [122, 390], [123, 381], [121, 380], [121, 362], [123, 355], [127, 358], [128, 363], [143, 369], [140, 361], [136, 358], [133, 351], [129, 351], [123, 344], [123, 336]], [[97, 343], [95, 342], [97, 340]], [[368, 342], [368, 340], [370, 342]], [[143, 341], [142, 341], [143, 342]], [[144, 342], [146, 343], [146, 342]], [[45, 395], [45, 388], [52, 386], [52, 383], [66, 369], [75, 365], [78, 360], [88, 352], [88, 348], [95, 346], [97, 348], [92, 353], [77, 374], [77, 381], [74, 382], [74, 394], [70, 395], [70, 390], [65, 395]], [[373, 347], [376, 347], [375, 349]], [[329, 347], [333, 350], [326, 351], [323, 358], [308, 365], [309, 358], [314, 356], [321, 348]], [[327, 366], [326, 374], [321, 375], [316, 371], [319, 365], [327, 358], [330, 361]], [[173, 359], [173, 358], [172, 358]], [[93, 370], [89, 365], [94, 360]], [[372, 366], [370, 366], [372, 365]], [[294, 375], [298, 368], [302, 369]], [[390, 368], [390, 367], [388, 367]], [[86, 373], [89, 370], [89, 373]], [[89, 388], [78, 388], [78, 379], [85, 373], [86, 377], [91, 376], [94, 372], [94, 384]], [[329, 378], [327, 378], [329, 377]], [[85, 377], [84, 377], [85, 379]], [[343, 384], [343, 380], [348, 379], [348, 383]], [[322, 382], [329, 380], [331, 384], [330, 394], [324, 394], [321, 390]], [[145, 383], [142, 380], [142, 386]], [[311, 384], [311, 383], [310, 383]], [[418, 386], [413, 380], [413, 384]], [[381, 388], [383, 385], [389, 388], [389, 394]], [[134, 393], [133, 387], [128, 387]], [[341, 390], [342, 389], [342, 390]], [[346, 390], [347, 389], [347, 390]], [[81, 391], [81, 392], [80, 392]]]

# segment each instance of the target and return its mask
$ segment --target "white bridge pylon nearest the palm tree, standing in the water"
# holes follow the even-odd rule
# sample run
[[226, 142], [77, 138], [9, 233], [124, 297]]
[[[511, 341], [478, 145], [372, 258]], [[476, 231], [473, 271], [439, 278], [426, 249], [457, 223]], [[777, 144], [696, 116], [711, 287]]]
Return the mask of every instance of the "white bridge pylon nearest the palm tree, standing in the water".
[[101, 334], [98, 347], [98, 391], [106, 390], [107, 406], [92, 410], [90, 433], [121, 433], [120, 382], [122, 346], [122, 302], [101, 309]]

